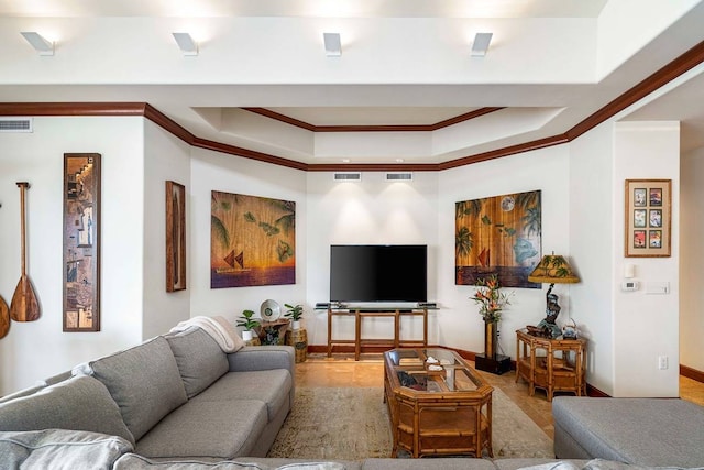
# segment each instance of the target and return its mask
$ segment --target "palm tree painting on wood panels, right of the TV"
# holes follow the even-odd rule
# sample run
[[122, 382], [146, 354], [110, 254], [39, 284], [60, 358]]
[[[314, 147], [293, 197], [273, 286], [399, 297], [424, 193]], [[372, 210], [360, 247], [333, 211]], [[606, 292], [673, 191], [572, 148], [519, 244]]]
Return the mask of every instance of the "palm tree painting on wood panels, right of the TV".
[[528, 274], [540, 261], [540, 190], [455, 203], [457, 285], [491, 274], [505, 287], [540, 288]]

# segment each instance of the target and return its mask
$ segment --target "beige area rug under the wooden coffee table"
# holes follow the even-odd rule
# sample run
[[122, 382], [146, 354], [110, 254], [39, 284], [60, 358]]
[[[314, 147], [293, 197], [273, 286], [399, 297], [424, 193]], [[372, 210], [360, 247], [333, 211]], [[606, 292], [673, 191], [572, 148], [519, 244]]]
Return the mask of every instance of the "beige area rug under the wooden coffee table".
[[[363, 460], [389, 457], [392, 433], [382, 387], [298, 387], [294, 409], [268, 457]], [[493, 394], [496, 458], [552, 458], [552, 440], [498, 389]]]

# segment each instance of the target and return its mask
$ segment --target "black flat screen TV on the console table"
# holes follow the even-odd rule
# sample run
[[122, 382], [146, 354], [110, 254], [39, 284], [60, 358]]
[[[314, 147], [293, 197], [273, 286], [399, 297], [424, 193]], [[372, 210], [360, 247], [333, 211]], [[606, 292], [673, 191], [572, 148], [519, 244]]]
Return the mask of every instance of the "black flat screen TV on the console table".
[[330, 302], [427, 302], [425, 244], [333, 244]]

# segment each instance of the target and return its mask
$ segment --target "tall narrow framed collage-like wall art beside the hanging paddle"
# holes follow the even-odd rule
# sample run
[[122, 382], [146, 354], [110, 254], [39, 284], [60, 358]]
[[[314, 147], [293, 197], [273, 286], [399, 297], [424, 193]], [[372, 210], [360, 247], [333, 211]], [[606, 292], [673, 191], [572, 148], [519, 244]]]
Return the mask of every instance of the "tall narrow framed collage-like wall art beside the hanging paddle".
[[100, 154], [64, 154], [64, 331], [100, 331]]

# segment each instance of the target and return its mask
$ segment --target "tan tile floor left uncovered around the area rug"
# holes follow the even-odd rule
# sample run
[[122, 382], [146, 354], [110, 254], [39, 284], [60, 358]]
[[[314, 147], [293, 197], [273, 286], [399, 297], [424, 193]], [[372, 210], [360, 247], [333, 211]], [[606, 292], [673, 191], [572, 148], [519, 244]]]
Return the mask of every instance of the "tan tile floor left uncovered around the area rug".
[[[472, 362], [470, 362], [473, 365]], [[501, 389], [551, 439], [554, 436], [551, 405], [543, 391], [528, 394], [522, 380], [516, 383], [514, 371], [503, 375], [481, 372], [486, 381]], [[384, 362], [381, 354], [362, 354], [355, 361], [350, 354], [308, 354], [306, 362], [296, 364], [298, 386], [384, 386]], [[704, 383], [680, 376], [680, 395], [684, 400], [704, 405]]]

